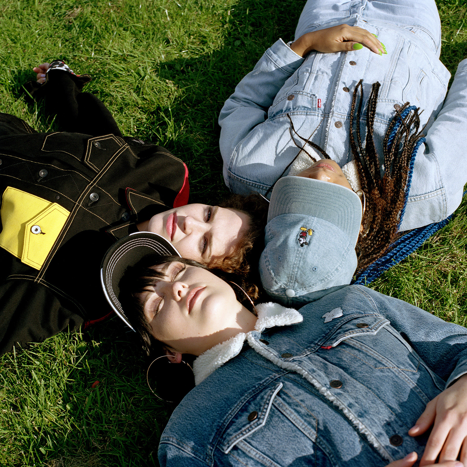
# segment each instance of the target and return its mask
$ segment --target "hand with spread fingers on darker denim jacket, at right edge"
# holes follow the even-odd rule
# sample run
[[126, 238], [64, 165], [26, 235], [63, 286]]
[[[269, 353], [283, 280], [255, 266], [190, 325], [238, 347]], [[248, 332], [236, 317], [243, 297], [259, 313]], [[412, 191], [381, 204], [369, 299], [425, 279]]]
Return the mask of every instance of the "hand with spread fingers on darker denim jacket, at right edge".
[[439, 455], [439, 462], [456, 460], [467, 465], [467, 375], [462, 375], [426, 405], [410, 436], [425, 433], [433, 425], [426, 442], [420, 467], [432, 465]]

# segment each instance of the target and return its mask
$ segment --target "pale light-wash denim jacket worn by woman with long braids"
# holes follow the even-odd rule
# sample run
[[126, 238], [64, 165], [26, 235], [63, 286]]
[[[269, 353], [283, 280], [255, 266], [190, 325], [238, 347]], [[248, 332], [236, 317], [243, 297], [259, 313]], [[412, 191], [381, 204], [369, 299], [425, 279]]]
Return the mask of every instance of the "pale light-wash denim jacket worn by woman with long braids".
[[[311, 52], [303, 59], [282, 40], [273, 44], [220, 112], [219, 144], [226, 185], [234, 193], [264, 194], [276, 181], [298, 152], [290, 137], [287, 113], [297, 133], [307, 139], [315, 132], [311, 141], [341, 167], [351, 161], [352, 92], [363, 78], [364, 105], [371, 85], [381, 83], [374, 125], [380, 155], [389, 121], [396, 115], [394, 106], [409, 101], [423, 110], [420, 119], [422, 126], [426, 124], [426, 143], [415, 159], [400, 230], [445, 219], [459, 206], [467, 182], [467, 60], [460, 62], [445, 100], [450, 74], [420, 31], [415, 34], [410, 28], [361, 19], [340, 20], [325, 27], [343, 22], [378, 35], [388, 55], [381, 57], [364, 48]], [[365, 120], [366, 111], [361, 116], [362, 128]], [[304, 144], [297, 137], [295, 140]]]

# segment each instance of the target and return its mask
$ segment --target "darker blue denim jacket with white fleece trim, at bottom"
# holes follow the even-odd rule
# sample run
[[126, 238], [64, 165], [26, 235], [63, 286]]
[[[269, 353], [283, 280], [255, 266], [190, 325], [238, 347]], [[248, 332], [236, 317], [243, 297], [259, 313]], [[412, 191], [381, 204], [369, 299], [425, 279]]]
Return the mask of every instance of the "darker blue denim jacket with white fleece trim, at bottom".
[[467, 373], [467, 329], [357, 285], [299, 313], [248, 333], [185, 396], [161, 437], [162, 467], [379, 467], [423, 453], [426, 436], [407, 432]]

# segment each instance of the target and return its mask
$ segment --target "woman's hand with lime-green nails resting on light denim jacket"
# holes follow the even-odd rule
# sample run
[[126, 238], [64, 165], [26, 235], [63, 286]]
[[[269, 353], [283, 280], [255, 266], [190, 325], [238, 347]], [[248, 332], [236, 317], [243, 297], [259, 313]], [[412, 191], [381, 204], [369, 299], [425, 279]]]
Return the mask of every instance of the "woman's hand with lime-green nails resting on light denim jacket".
[[290, 44], [290, 49], [300, 57], [304, 57], [311, 50], [329, 53], [358, 50], [362, 49], [362, 46], [368, 47], [375, 54], [387, 53], [386, 48], [375, 35], [365, 29], [348, 24], [308, 32]]

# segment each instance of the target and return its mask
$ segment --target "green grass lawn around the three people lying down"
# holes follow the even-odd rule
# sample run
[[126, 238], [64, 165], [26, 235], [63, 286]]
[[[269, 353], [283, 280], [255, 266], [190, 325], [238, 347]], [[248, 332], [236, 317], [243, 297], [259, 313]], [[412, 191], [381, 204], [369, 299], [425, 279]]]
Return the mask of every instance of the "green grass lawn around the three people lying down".
[[[187, 162], [193, 202], [215, 202], [227, 193], [220, 107], [277, 37], [292, 38], [303, 4], [4, 0], [1, 110], [38, 130], [54, 128], [40, 107], [23, 100], [21, 85], [34, 77], [33, 66], [64, 58], [93, 76], [87, 90], [106, 103], [124, 134], [162, 144]], [[454, 73], [467, 56], [467, 5], [438, 5], [441, 59]], [[466, 209], [464, 201], [448, 226], [372, 287], [465, 325]], [[1, 357], [0, 466], [157, 465], [172, 406], [149, 392], [143, 366], [115, 321]]]

